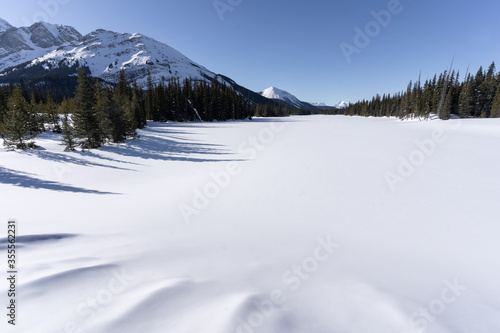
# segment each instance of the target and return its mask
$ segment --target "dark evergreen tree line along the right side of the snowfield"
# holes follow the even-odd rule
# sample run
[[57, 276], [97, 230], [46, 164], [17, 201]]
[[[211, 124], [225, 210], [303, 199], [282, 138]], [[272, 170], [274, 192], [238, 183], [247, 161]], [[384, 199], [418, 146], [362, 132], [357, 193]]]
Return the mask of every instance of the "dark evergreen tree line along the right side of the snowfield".
[[333, 113], [365, 117], [399, 117], [400, 119], [428, 118], [436, 114], [447, 120], [459, 118], [500, 117], [500, 72], [493, 62], [488, 70], [480, 67], [475, 75], [466, 73], [460, 81], [460, 73], [444, 71], [422, 85], [420, 79], [410, 81], [405, 91], [396, 94], [377, 95], [362, 100], [348, 108]]

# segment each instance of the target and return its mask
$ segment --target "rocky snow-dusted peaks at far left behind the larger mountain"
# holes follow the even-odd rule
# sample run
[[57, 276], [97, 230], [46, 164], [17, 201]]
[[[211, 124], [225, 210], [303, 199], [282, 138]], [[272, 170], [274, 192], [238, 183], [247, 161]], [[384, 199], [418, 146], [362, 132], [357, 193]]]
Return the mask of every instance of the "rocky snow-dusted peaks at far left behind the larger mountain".
[[81, 34], [70, 26], [38, 22], [30, 27], [14, 28], [5, 20], [1, 20], [0, 72], [69, 45], [81, 37]]

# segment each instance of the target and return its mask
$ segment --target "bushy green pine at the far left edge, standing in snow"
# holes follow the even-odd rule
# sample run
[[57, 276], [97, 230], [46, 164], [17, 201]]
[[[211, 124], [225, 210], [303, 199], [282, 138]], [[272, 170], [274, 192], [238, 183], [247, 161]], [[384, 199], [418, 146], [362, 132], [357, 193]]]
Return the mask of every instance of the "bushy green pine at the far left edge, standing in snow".
[[38, 135], [38, 131], [32, 128], [33, 123], [36, 123], [36, 116], [31, 112], [21, 89], [16, 86], [8, 99], [7, 110], [0, 124], [4, 145], [17, 149], [34, 147], [34, 142], [30, 140]]

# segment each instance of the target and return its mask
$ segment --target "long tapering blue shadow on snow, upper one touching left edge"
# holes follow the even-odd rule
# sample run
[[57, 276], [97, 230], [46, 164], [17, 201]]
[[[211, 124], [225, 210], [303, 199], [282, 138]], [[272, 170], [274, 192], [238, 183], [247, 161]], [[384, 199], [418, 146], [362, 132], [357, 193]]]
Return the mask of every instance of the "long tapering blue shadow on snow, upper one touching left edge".
[[50, 180], [43, 180], [40, 178], [36, 178], [28, 173], [14, 171], [4, 167], [0, 167], [0, 184], [14, 185], [14, 186], [37, 189], [37, 190], [51, 190], [58, 192], [73, 192], [73, 193], [86, 193], [86, 194], [118, 194], [112, 192], [89, 190], [81, 187], [66, 185], [63, 183], [53, 182]]

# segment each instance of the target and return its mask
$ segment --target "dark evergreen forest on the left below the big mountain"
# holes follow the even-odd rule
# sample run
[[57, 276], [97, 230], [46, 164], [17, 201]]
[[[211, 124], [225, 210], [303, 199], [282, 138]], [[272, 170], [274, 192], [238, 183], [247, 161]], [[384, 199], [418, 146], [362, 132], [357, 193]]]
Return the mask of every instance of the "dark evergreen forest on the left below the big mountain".
[[50, 92], [18, 85], [0, 86], [0, 134], [11, 149], [35, 147], [35, 137], [46, 130], [62, 133], [66, 150], [94, 149], [108, 142], [136, 137], [147, 120], [225, 121], [251, 118], [255, 105], [242, 93], [221, 83], [178, 79], [147, 89], [130, 85], [124, 71], [116, 85], [109, 85], [78, 71], [74, 97], [57, 101]]

